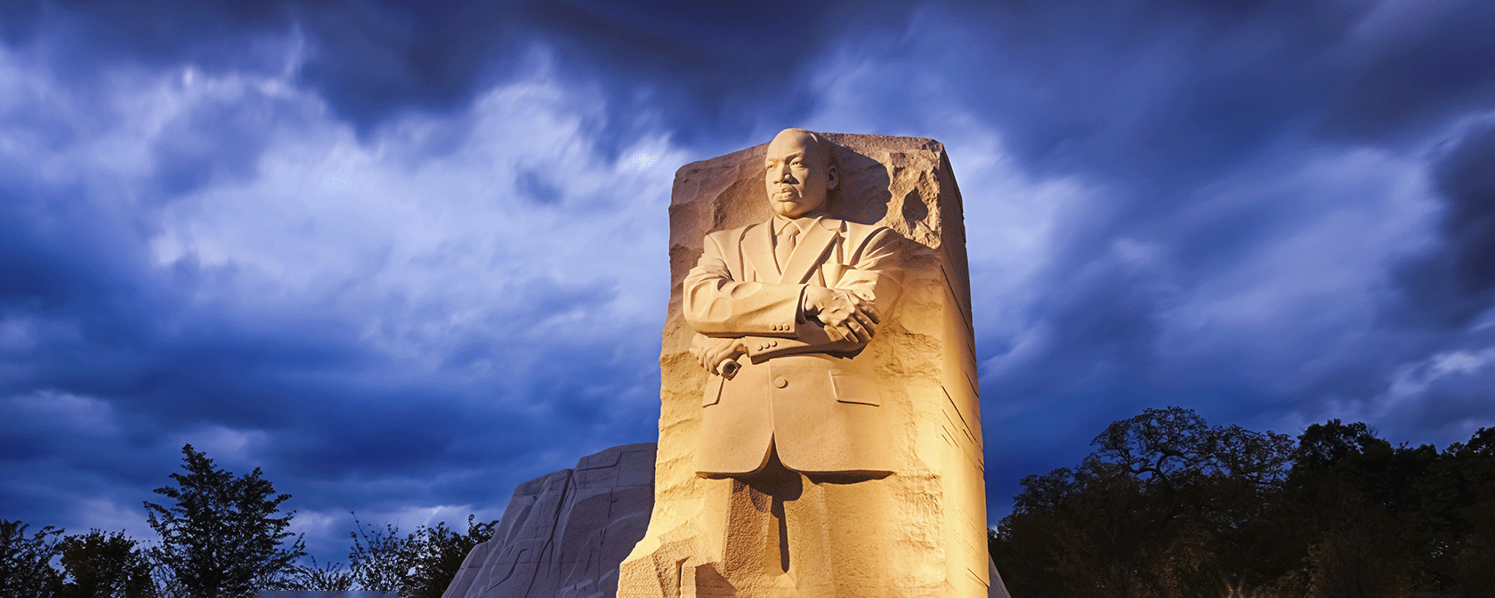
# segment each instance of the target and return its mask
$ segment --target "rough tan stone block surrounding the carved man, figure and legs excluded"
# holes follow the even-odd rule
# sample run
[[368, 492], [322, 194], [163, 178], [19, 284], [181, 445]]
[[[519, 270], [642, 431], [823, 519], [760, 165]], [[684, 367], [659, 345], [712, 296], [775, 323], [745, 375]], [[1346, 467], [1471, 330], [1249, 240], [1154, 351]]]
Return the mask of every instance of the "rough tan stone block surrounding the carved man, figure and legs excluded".
[[[936, 141], [827, 133], [837, 144], [840, 187], [831, 217], [882, 224], [906, 241], [903, 293], [893, 320], [867, 345], [878, 365], [894, 432], [894, 475], [869, 486], [867, 508], [851, 517], [878, 528], [879, 568], [898, 598], [1005, 595], [987, 555], [982, 438], [975, 335], [960, 191]], [[721, 505], [734, 480], [695, 475], [707, 372], [689, 353], [682, 281], [707, 233], [770, 218], [764, 190], [767, 145], [680, 167], [670, 205], [671, 293], [661, 365], [659, 451], [649, 531], [620, 565], [623, 598], [770, 597], [770, 580], [724, 571], [734, 543]], [[854, 522], [855, 525], [857, 522]], [[843, 525], [845, 526], [845, 525]], [[834, 534], [837, 531], [825, 531]], [[746, 540], [745, 540], [746, 538]], [[742, 549], [733, 549], [742, 552]], [[864, 555], [846, 555], [858, 558]], [[887, 570], [881, 570], [881, 568]], [[828, 598], [828, 597], [827, 597]]]

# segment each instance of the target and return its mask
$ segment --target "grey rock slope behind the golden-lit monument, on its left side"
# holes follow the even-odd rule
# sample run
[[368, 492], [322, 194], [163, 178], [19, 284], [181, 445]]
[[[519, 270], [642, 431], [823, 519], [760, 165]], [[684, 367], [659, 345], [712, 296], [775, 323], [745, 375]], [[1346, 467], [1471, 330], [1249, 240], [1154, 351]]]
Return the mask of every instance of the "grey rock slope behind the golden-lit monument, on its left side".
[[655, 444], [625, 444], [520, 484], [443, 598], [614, 597], [617, 564], [649, 525], [653, 463]]

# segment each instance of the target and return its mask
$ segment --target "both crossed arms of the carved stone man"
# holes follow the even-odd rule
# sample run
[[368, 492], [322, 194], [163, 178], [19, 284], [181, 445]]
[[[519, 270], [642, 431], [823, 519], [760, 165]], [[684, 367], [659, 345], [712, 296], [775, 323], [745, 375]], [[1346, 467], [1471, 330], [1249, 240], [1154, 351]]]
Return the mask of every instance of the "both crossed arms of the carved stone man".
[[[876, 335], [901, 284], [896, 233], [879, 230], [831, 287], [734, 280], [713, 235], [685, 280], [685, 318], [703, 368], [746, 354], [855, 353]], [[737, 248], [733, 247], [733, 251]]]

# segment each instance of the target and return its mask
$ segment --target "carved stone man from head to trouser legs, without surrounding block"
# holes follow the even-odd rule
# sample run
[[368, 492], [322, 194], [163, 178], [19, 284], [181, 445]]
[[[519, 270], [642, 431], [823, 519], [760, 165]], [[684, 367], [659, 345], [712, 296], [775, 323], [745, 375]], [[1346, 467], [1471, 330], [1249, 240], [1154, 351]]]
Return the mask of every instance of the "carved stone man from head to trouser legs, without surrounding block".
[[712, 372], [695, 471], [733, 478], [730, 534], [759, 535], [727, 538], [730, 571], [758, 570], [773, 595], [884, 595], [858, 571], [876, 567], [878, 534], [855, 486], [894, 471], [890, 414], [858, 356], [900, 295], [901, 238], [827, 215], [839, 175], [819, 135], [779, 133], [765, 167], [773, 217], [707, 235], [685, 278]]

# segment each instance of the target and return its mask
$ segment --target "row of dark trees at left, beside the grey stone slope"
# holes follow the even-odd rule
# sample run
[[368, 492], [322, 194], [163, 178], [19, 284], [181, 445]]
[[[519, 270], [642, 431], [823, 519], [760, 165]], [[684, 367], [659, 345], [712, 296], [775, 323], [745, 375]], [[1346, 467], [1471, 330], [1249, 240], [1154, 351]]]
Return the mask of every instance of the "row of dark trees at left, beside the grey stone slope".
[[462, 559], [493, 535], [498, 522], [466, 532], [420, 526], [401, 535], [357, 528], [348, 567], [306, 559], [300, 537], [287, 531], [295, 511], [281, 513], [290, 495], [277, 495], [259, 468], [233, 475], [212, 459], [182, 447], [175, 486], [154, 492], [169, 502], [145, 502], [154, 543], [93, 529], [63, 535], [45, 526], [0, 519], [0, 598], [248, 598], [259, 591], [395, 592], [401, 598], [438, 598]]

